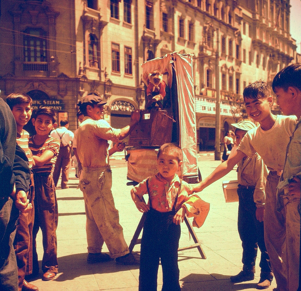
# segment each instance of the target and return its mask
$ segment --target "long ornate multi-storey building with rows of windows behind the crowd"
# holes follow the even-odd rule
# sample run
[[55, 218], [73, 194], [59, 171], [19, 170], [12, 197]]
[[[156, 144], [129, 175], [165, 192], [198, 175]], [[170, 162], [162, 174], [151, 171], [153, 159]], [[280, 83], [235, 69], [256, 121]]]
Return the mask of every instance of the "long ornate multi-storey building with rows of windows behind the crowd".
[[28, 93], [74, 130], [77, 101], [95, 92], [107, 101], [105, 118], [122, 127], [144, 109], [141, 64], [191, 53], [198, 136], [212, 149], [216, 88], [223, 136], [244, 87], [271, 83], [297, 59], [289, 16], [289, 0], [2, 1], [1, 97]]

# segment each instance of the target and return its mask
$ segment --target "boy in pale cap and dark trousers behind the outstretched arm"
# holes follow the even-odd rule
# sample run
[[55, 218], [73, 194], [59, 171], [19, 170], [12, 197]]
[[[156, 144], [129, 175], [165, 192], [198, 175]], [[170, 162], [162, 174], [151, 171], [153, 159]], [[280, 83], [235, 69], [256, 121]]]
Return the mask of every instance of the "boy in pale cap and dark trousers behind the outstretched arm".
[[[238, 146], [248, 130], [255, 128], [249, 120], [231, 124], [235, 128], [235, 143]], [[256, 153], [252, 158], [244, 157], [237, 164], [238, 218], [237, 226], [243, 247], [243, 271], [231, 276], [234, 283], [254, 279], [257, 249], [261, 251], [260, 281], [257, 289], [270, 286], [273, 273], [264, 242], [263, 213], [265, 205], [265, 183], [268, 169]]]

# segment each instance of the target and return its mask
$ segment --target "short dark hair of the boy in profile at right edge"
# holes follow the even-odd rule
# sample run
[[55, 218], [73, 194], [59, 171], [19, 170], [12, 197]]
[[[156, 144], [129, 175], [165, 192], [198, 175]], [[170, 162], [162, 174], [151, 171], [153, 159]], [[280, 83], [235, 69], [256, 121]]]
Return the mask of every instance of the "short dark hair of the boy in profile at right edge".
[[285, 92], [288, 87], [296, 87], [301, 91], [301, 63], [292, 64], [280, 70], [274, 77], [272, 89], [282, 88]]

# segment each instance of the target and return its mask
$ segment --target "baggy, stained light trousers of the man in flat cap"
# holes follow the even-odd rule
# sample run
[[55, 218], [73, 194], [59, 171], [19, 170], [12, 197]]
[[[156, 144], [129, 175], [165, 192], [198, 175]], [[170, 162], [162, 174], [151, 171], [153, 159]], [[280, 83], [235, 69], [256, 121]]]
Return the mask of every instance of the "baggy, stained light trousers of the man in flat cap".
[[105, 242], [111, 258], [128, 254], [129, 248], [123, 237], [123, 228], [119, 224], [119, 213], [111, 191], [110, 166], [83, 167], [79, 187], [85, 199], [88, 252], [101, 252]]

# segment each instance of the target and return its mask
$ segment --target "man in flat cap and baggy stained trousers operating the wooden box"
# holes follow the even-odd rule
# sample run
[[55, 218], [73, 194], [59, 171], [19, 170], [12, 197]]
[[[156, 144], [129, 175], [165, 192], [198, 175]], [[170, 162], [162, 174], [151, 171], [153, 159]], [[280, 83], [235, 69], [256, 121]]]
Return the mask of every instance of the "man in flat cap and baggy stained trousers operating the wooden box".
[[[121, 129], [110, 126], [103, 119], [106, 102], [95, 95], [87, 95], [79, 100], [79, 110], [84, 119], [79, 125], [77, 151], [82, 163], [79, 187], [85, 199], [86, 233], [88, 242], [88, 263], [97, 263], [116, 259], [117, 264], [139, 264], [129, 253], [123, 237], [123, 228], [119, 224], [118, 210], [115, 208], [111, 191], [112, 171], [109, 156], [122, 151], [124, 139], [140, 120], [140, 110], [132, 114], [129, 125]], [[115, 142], [110, 150], [108, 140]], [[104, 242], [110, 255], [101, 252]]]

